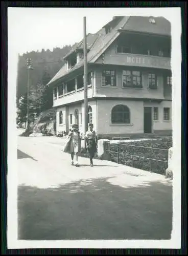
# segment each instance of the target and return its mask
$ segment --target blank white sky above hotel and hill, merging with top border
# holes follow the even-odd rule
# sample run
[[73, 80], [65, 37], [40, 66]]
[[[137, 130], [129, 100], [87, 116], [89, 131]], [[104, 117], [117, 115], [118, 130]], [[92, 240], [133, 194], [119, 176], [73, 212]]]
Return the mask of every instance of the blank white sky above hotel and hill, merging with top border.
[[113, 16], [164, 16], [170, 22], [177, 8], [8, 8], [8, 47], [22, 55], [27, 51], [51, 51], [73, 45], [87, 33], [96, 33]]

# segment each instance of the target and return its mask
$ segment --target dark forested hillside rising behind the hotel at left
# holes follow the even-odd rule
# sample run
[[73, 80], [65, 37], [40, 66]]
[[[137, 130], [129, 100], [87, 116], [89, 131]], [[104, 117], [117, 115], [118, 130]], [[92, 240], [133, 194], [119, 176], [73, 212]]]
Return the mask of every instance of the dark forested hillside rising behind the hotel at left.
[[37, 83], [48, 83], [59, 71], [64, 64], [62, 58], [71, 48], [72, 46], [64, 46], [62, 49], [54, 48], [53, 51], [42, 49], [41, 52], [32, 51], [19, 56], [16, 102], [27, 92], [27, 58], [31, 58], [33, 67], [30, 72], [30, 88], [36, 89]]

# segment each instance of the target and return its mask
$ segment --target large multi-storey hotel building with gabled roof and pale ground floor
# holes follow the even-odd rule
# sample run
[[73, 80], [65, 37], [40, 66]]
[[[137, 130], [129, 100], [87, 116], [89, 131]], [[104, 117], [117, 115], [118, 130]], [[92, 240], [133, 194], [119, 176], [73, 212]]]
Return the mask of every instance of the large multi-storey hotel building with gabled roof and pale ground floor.
[[[88, 122], [100, 138], [172, 133], [171, 25], [163, 17], [116, 16], [87, 35]], [[49, 82], [57, 131], [84, 132], [83, 41]]]

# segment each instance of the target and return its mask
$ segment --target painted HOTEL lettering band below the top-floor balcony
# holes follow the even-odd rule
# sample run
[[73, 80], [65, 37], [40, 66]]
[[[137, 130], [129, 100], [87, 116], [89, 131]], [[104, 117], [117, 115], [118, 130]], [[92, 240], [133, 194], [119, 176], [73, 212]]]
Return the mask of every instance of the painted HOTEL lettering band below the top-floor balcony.
[[170, 58], [165, 57], [151, 57], [151, 56], [126, 56], [126, 65], [171, 69]]

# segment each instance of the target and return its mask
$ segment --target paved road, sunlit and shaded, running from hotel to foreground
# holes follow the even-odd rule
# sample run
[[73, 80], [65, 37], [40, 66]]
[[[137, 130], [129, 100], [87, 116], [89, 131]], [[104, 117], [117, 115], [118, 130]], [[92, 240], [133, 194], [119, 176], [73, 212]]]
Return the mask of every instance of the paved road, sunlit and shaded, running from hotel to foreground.
[[171, 238], [169, 180], [108, 161], [70, 166], [55, 140], [18, 137], [19, 239]]

